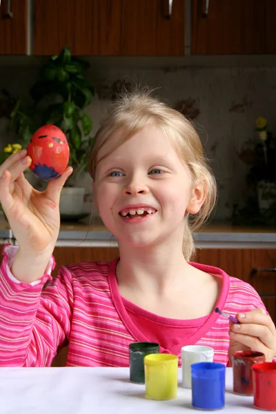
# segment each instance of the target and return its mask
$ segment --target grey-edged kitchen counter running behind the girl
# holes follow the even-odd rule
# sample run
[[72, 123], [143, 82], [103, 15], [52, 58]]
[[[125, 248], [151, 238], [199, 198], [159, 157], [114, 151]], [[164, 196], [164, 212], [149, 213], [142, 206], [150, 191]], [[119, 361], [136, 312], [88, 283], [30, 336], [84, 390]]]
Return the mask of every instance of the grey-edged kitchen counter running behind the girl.
[[[199, 248], [276, 248], [276, 228], [231, 226], [210, 223], [193, 234]], [[15, 242], [7, 221], [0, 219], [2, 243]], [[113, 247], [116, 238], [97, 221], [95, 224], [61, 222], [57, 246]]]

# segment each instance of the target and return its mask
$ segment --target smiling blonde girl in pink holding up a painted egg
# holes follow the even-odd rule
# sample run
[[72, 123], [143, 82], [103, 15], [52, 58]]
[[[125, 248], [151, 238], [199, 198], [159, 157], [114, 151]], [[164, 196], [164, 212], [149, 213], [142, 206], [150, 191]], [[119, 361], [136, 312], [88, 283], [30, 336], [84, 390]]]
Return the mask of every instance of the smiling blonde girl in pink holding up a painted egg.
[[[255, 290], [188, 262], [191, 230], [212, 210], [216, 186], [179, 112], [133, 93], [97, 133], [90, 175], [99, 215], [119, 243], [111, 263], [62, 266], [51, 278], [59, 195], [72, 168], [39, 193], [24, 178], [28, 166], [26, 150], [0, 166], [0, 201], [19, 244], [4, 248], [1, 264], [1, 366], [50, 366], [68, 343], [68, 366], [128, 366], [137, 341], [158, 342], [180, 364], [187, 344], [212, 346], [223, 364], [248, 348], [273, 359], [275, 326]], [[240, 324], [229, 329], [216, 306]]]

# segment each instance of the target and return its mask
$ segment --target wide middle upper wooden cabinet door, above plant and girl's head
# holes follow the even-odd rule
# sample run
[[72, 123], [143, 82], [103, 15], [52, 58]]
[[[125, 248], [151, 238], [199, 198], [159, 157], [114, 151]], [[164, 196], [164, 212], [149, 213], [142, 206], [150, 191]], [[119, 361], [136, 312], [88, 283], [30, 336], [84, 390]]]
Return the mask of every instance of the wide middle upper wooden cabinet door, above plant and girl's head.
[[185, 0], [34, 0], [34, 55], [178, 56]]

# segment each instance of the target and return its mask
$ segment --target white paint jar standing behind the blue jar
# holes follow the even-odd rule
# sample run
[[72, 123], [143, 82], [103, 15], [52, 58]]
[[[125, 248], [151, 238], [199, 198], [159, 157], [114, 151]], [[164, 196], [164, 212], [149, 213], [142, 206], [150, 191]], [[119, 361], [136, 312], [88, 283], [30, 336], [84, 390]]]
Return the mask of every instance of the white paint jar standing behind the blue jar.
[[214, 350], [210, 346], [187, 345], [181, 348], [182, 359], [182, 385], [184, 388], [192, 387], [190, 366], [197, 362], [213, 362]]

